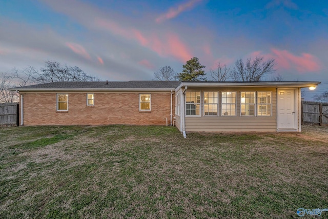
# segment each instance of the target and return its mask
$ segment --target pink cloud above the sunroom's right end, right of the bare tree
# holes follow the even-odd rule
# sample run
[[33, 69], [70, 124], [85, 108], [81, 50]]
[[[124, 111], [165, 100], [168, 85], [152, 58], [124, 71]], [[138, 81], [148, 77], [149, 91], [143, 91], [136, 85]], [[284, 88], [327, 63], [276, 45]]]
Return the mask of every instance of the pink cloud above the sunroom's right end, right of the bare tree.
[[298, 72], [313, 72], [321, 69], [318, 59], [309, 53], [301, 53], [300, 56], [294, 55], [287, 50], [271, 49], [273, 57], [279, 67], [290, 69], [296, 68]]

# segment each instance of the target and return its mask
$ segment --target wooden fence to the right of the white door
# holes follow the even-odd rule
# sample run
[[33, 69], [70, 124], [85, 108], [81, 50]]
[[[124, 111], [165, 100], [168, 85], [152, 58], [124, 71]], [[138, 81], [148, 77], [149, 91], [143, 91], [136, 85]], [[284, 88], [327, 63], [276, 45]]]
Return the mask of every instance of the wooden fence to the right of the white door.
[[302, 124], [328, 126], [328, 103], [302, 101]]

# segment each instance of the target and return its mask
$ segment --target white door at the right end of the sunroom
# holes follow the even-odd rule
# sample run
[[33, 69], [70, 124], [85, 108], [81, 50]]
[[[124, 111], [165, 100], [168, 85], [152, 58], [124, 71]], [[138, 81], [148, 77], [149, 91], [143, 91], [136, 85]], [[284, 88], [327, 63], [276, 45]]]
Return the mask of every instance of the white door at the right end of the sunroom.
[[278, 89], [278, 129], [296, 129], [295, 91]]

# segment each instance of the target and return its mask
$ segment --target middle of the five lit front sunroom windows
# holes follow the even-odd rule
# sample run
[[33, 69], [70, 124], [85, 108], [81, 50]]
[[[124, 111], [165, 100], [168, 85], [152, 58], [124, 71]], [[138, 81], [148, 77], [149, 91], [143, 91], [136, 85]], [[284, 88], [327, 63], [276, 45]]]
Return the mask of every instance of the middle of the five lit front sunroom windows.
[[236, 92], [222, 91], [221, 116], [236, 116]]

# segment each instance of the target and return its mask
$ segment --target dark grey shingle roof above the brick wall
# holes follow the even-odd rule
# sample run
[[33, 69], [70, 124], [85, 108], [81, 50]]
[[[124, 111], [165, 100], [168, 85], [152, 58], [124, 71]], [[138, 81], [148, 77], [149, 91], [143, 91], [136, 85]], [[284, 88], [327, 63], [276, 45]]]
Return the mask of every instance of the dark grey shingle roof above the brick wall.
[[11, 88], [11, 90], [48, 90], [48, 89], [175, 89], [178, 81], [129, 81], [129, 82], [53, 82]]

